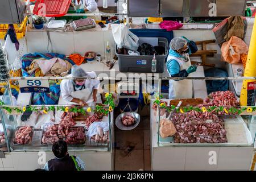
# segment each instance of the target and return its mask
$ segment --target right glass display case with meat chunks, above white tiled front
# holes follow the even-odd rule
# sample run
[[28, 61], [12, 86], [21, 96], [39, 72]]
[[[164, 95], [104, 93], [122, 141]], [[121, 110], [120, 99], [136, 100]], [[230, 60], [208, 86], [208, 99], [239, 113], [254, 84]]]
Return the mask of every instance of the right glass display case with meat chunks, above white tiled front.
[[[167, 77], [162, 80], [170, 79], [178, 81], [179, 78]], [[186, 80], [186, 78], [181, 79]], [[201, 89], [200, 85], [199, 87], [195, 85], [203, 84], [205, 81], [210, 85], [209, 81], [226, 80], [235, 83], [231, 86], [240, 82], [242, 86], [245, 80], [243, 77], [195, 77], [187, 80], [191, 80], [194, 84], [193, 98], [166, 99], [164, 93], [159, 92], [159, 99], [151, 101], [151, 120], [157, 123], [155, 132], [158, 146], [254, 146], [256, 131], [254, 80], [246, 82], [248, 89], [244, 94], [247, 94], [247, 106], [240, 106], [240, 98], [236, 96], [232, 87], [229, 87], [228, 91], [209, 92], [212, 89], [209, 86], [207, 92]], [[242, 87], [240, 91], [241, 89]], [[181, 105], [177, 107], [179, 101]]]

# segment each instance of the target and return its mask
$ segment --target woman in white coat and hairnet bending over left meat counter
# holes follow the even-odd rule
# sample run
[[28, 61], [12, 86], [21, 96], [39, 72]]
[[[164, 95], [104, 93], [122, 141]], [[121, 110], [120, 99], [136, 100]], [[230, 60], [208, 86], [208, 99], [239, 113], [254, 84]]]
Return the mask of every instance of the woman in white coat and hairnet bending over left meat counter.
[[[96, 77], [95, 72], [85, 72], [77, 65], [73, 65], [71, 69], [72, 77]], [[96, 102], [101, 103], [101, 97], [98, 93], [100, 87], [99, 80], [93, 79], [77, 79], [77, 80], [62, 80], [60, 83], [60, 95], [64, 100], [61, 104], [73, 104], [80, 106], [93, 106]], [[60, 102], [59, 102], [60, 104]]]

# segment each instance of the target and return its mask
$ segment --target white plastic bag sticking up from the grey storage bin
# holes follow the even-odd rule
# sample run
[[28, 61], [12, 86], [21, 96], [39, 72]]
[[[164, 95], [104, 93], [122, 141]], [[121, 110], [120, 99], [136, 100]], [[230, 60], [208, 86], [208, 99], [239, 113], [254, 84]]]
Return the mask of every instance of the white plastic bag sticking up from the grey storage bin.
[[127, 48], [137, 51], [139, 47], [139, 38], [125, 24], [112, 24], [112, 34], [117, 44], [117, 48]]

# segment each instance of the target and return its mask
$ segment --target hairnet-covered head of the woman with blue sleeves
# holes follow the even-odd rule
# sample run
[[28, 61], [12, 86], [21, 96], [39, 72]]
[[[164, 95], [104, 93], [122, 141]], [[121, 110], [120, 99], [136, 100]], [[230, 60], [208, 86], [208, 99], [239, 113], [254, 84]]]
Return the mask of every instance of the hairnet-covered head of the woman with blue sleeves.
[[172, 39], [170, 48], [180, 54], [189, 52], [187, 40], [181, 37]]

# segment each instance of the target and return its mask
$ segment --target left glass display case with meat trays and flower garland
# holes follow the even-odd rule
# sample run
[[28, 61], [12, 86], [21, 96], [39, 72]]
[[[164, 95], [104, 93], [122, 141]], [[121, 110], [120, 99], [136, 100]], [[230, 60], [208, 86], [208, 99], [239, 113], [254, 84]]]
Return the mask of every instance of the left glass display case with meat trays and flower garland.
[[6, 86], [0, 110], [2, 129], [8, 135], [6, 151], [51, 151], [53, 142], [63, 139], [71, 152], [112, 152], [109, 105], [14, 105], [10, 96]]

